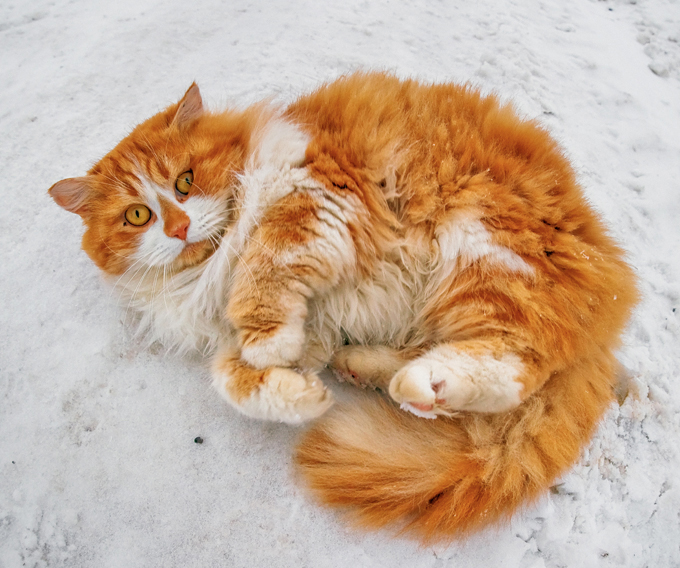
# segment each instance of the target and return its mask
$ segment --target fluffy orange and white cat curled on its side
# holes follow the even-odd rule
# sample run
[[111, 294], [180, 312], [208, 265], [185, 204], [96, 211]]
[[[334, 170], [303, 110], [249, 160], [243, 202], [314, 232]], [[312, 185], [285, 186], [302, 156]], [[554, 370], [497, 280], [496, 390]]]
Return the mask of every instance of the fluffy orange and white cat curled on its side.
[[[297, 467], [364, 527], [507, 519], [613, 400], [635, 275], [549, 134], [469, 86], [358, 72], [210, 112], [193, 84], [49, 193], [153, 340], [210, 353], [243, 414], [318, 419]], [[326, 365], [389, 398], [321, 417]]]

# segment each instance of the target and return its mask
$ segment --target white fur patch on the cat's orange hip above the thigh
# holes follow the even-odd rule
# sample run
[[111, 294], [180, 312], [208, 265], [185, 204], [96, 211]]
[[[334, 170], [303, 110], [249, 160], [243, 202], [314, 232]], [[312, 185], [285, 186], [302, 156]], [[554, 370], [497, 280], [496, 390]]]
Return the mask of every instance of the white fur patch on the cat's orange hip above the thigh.
[[442, 260], [460, 260], [464, 265], [480, 258], [504, 266], [511, 272], [533, 274], [532, 266], [510, 249], [495, 244], [484, 223], [469, 213], [454, 215], [435, 230]]

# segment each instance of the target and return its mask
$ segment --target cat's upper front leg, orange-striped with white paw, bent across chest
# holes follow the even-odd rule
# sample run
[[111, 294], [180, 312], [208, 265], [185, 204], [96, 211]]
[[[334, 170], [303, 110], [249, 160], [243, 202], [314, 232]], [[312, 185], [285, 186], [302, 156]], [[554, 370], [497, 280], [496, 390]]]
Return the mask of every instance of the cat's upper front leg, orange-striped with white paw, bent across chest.
[[354, 269], [349, 212], [321, 187], [272, 206], [241, 257], [227, 317], [256, 369], [294, 366], [306, 346], [308, 300]]

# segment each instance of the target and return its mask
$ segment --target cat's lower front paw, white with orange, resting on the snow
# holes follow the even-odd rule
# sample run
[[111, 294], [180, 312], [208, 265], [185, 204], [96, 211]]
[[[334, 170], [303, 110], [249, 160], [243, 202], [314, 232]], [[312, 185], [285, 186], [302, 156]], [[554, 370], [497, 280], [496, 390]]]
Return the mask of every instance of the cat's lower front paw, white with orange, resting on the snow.
[[333, 404], [331, 392], [315, 373], [230, 364], [215, 365], [213, 374], [218, 392], [252, 418], [300, 424], [321, 416]]

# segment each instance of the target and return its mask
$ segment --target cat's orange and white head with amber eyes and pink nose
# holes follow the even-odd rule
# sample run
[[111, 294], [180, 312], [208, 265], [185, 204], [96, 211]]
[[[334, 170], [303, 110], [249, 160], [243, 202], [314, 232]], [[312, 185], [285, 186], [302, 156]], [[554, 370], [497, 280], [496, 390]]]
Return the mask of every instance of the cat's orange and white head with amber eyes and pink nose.
[[226, 230], [251, 130], [243, 113], [205, 111], [193, 84], [49, 194], [82, 217], [83, 249], [105, 272], [181, 270], [209, 257]]

